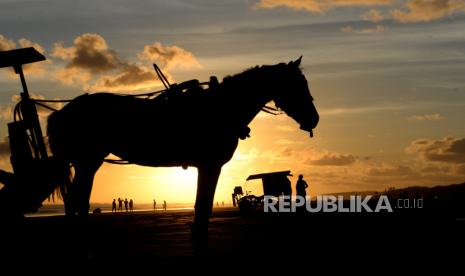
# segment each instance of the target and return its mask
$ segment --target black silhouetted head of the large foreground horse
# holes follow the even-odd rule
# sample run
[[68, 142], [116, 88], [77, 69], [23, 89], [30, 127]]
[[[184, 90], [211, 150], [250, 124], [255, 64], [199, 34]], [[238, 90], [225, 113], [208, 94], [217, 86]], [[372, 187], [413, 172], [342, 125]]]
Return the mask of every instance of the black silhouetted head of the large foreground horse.
[[318, 124], [319, 115], [307, 79], [299, 68], [301, 61], [302, 57], [279, 65], [279, 76], [276, 77], [279, 81], [274, 86], [272, 100], [276, 107], [300, 124], [300, 129], [308, 131], [313, 137], [312, 130]]

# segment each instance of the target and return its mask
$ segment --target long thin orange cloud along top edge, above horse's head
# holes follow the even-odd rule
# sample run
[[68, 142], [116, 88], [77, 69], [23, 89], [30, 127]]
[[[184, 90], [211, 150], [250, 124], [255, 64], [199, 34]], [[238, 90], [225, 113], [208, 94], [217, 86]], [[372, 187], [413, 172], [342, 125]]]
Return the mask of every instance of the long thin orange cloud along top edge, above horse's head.
[[261, 0], [253, 8], [273, 9], [286, 7], [294, 10], [322, 13], [337, 7], [378, 6], [389, 5], [392, 2], [393, 0]]

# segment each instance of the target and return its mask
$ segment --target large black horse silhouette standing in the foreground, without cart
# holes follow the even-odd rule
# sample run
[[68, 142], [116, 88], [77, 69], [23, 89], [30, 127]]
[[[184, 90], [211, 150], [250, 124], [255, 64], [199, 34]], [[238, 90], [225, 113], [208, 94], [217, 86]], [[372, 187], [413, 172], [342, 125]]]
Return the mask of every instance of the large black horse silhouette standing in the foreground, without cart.
[[217, 87], [155, 99], [110, 93], [75, 98], [48, 119], [50, 149], [74, 167], [64, 195], [68, 215], [86, 216], [94, 175], [110, 153], [151, 167], [198, 169], [191, 237], [205, 241], [222, 166], [248, 124], [274, 101], [312, 134], [319, 116], [299, 65], [263, 65], [228, 76]]

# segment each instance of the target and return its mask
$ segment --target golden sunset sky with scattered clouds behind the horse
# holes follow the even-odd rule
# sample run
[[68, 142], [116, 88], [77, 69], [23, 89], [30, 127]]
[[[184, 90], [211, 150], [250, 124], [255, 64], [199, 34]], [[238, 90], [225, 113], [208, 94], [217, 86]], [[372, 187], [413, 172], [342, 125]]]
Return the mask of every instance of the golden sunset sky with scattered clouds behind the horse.
[[[25, 70], [46, 99], [161, 89], [153, 62], [172, 82], [207, 81], [303, 55], [315, 137], [260, 113], [223, 169], [218, 201], [275, 170], [291, 170], [294, 184], [303, 174], [311, 195], [465, 180], [465, 0], [0, 0], [0, 50], [26, 46], [48, 59]], [[6, 170], [20, 89], [2, 69]], [[91, 201], [188, 203], [195, 183], [194, 168], [105, 164]]]

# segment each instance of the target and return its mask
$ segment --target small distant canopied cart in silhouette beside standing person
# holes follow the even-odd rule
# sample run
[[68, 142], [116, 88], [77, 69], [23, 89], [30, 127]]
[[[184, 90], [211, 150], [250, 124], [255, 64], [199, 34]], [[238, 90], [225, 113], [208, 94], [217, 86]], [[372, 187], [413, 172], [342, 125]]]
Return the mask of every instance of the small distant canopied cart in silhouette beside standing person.
[[[265, 196], [280, 197], [282, 195], [290, 196], [292, 193], [291, 181], [288, 176], [292, 176], [291, 171], [278, 171], [270, 173], [260, 173], [249, 175], [246, 179], [244, 188], [242, 186], [234, 187], [232, 201], [234, 206], [238, 206], [243, 213], [263, 210], [263, 201]], [[263, 186], [263, 195], [249, 194], [247, 184], [250, 180], [261, 179]]]

